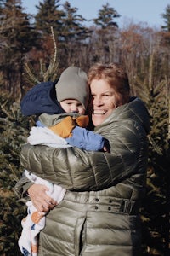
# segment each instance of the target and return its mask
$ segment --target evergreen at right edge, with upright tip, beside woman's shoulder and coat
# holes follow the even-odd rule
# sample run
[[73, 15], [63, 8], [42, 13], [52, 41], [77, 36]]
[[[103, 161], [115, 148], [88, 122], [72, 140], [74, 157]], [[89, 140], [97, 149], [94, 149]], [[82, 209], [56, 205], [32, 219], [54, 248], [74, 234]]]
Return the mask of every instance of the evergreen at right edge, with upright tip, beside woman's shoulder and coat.
[[150, 54], [149, 69], [144, 79], [135, 78], [137, 95], [146, 103], [150, 112], [149, 166], [147, 195], [142, 213], [144, 255], [169, 255], [169, 198], [170, 198], [170, 140], [169, 88], [167, 79], [156, 81], [156, 55]]

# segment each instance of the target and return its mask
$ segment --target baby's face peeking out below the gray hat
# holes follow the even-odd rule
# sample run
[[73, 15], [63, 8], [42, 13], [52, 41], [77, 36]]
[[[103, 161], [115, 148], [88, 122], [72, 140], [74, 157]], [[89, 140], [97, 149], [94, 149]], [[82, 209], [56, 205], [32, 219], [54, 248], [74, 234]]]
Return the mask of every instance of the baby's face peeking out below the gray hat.
[[85, 109], [82, 106], [81, 102], [72, 99], [66, 99], [60, 102], [61, 107], [65, 110], [66, 113], [80, 113], [84, 114]]

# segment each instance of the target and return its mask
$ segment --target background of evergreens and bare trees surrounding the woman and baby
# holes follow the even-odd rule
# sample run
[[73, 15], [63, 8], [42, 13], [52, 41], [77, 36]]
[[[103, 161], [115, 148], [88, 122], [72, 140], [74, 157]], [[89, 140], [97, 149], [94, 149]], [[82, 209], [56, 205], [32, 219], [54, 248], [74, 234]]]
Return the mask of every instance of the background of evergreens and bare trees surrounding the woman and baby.
[[[88, 71], [94, 62], [122, 62], [132, 95], [150, 112], [147, 195], [141, 209], [143, 255], [170, 255], [170, 5], [164, 26], [117, 26], [120, 14], [106, 3], [93, 25], [65, 1], [44, 0], [27, 14], [20, 0], [0, 0], [0, 255], [21, 255], [20, 221], [26, 207], [14, 193], [20, 149], [34, 125], [20, 100], [35, 84], [56, 81], [71, 65]], [[87, 24], [87, 23], [86, 23]]]

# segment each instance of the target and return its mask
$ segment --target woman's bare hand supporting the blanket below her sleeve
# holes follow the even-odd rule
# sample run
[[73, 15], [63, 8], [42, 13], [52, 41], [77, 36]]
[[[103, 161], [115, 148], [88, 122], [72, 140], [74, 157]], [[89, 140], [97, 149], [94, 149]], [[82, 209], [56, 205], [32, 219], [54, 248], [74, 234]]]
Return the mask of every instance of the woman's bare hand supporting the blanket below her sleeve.
[[41, 184], [33, 184], [28, 189], [31, 201], [38, 212], [48, 212], [57, 205], [57, 202], [48, 196], [46, 191], [48, 191], [48, 187]]

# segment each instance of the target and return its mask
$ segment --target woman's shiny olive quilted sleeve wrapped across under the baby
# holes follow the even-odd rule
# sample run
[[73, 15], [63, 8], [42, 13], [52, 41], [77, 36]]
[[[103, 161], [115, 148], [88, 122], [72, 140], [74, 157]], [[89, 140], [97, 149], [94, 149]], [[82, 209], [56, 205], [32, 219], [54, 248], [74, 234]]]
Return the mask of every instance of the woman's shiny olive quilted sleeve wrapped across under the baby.
[[[113, 138], [115, 145], [111, 144], [111, 154], [79, 148], [26, 145], [22, 149], [20, 163], [37, 176], [60, 184], [65, 189], [105, 189], [137, 171], [141, 160], [140, 150], [145, 149], [146, 137], [128, 128], [125, 126], [124, 129], [126, 137], [117, 131], [117, 136]], [[147, 153], [143, 160], [146, 158]]]

